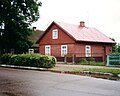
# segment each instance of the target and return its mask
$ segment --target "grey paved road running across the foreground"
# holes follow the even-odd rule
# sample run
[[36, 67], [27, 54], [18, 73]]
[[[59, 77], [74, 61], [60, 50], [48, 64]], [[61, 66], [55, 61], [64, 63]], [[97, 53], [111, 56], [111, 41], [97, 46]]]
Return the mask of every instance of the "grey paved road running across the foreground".
[[0, 96], [120, 96], [120, 82], [0, 67]]

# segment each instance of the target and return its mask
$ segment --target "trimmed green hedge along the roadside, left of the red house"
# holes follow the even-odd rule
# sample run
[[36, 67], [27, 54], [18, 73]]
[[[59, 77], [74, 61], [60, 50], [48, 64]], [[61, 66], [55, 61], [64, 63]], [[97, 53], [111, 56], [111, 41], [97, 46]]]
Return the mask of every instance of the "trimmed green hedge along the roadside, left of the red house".
[[56, 64], [55, 57], [40, 54], [4, 54], [1, 56], [0, 61], [9, 65], [41, 68], [52, 68]]

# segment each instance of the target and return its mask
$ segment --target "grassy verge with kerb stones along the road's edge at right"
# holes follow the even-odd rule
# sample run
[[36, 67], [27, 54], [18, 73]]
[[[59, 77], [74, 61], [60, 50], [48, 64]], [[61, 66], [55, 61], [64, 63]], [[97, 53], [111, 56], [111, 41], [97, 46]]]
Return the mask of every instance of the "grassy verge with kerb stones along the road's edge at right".
[[[82, 71], [85, 71], [85, 73], [83, 73]], [[87, 75], [87, 76], [91, 76], [95, 78], [103, 78], [103, 79], [108, 79], [108, 80], [120, 80], [120, 77], [118, 76], [118, 74], [120, 74], [120, 69], [80, 68], [78, 70], [65, 71], [65, 73], [83, 75], [83, 76]], [[111, 73], [113, 75], [109, 75], [109, 74], [106, 75], [104, 73]]]

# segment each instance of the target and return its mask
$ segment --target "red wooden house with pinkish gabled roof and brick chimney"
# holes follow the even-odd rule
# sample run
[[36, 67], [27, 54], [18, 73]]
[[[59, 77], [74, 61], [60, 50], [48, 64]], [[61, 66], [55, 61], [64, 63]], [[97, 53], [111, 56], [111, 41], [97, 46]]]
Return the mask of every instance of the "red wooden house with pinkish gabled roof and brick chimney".
[[86, 27], [84, 22], [72, 25], [54, 21], [38, 42], [41, 54], [55, 56], [58, 61], [63, 61], [65, 56], [67, 61], [85, 57], [105, 61], [115, 43], [97, 29]]

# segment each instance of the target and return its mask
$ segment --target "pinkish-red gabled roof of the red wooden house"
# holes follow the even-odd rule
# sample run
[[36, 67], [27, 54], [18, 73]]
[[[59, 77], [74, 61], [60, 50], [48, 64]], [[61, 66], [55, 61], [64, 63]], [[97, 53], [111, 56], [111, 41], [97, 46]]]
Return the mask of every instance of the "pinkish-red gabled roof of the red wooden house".
[[70, 37], [76, 41], [81, 42], [100, 42], [100, 43], [115, 43], [113, 40], [108, 38], [106, 35], [101, 33], [96, 28], [81, 27], [80, 25], [67, 24], [62, 22], [53, 21], [51, 25], [46, 29], [45, 33], [51, 26], [55, 24], [66, 32]]

